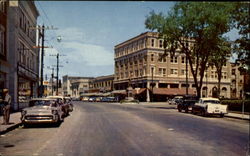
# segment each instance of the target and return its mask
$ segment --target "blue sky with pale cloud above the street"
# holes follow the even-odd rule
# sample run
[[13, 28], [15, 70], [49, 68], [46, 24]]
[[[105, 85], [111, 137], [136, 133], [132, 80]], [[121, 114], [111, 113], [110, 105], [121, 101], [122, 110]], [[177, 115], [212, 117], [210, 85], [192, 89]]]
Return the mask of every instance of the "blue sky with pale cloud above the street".
[[[35, 1], [45, 30], [44, 73], [50, 78], [59, 53], [59, 77], [114, 74], [114, 46], [149, 31], [149, 12], [167, 14], [175, 2]], [[236, 31], [229, 36], [235, 38]], [[57, 40], [61, 36], [60, 42]]]

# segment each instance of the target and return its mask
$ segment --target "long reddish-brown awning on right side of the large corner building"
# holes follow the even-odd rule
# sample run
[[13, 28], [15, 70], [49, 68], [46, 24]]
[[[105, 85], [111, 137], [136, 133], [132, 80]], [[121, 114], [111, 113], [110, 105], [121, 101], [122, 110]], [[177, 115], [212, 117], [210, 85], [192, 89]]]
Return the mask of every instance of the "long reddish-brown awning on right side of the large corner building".
[[[186, 88], [154, 88], [157, 95], [186, 95]], [[195, 95], [195, 89], [188, 88], [188, 94]]]

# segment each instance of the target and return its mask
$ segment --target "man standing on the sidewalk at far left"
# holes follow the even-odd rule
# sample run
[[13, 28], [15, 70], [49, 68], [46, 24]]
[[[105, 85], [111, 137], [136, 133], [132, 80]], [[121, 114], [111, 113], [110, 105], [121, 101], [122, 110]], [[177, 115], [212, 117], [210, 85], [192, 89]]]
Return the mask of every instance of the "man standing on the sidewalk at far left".
[[7, 125], [9, 124], [10, 120], [10, 104], [11, 104], [11, 96], [9, 95], [8, 89], [3, 89], [3, 99], [4, 99], [3, 125]]

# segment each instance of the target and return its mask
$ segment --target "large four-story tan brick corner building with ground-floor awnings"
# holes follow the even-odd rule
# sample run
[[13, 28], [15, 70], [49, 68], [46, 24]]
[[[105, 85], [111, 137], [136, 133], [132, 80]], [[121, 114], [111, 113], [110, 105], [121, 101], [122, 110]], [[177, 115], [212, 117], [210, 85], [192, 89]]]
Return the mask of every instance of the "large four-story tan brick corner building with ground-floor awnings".
[[[188, 42], [189, 47], [194, 43]], [[115, 90], [127, 89], [129, 84], [144, 94], [143, 100], [151, 95], [165, 100], [166, 96], [186, 94], [186, 59], [177, 47], [175, 55], [162, 58], [163, 40], [155, 32], [145, 32], [115, 46]], [[230, 63], [223, 67], [221, 95], [230, 97]], [[217, 91], [215, 68], [206, 71], [202, 96], [213, 96]], [[151, 85], [154, 84], [154, 85]], [[143, 93], [143, 91], [145, 91]], [[152, 94], [153, 93], [153, 94]], [[188, 65], [188, 93], [195, 94], [194, 80]]]

